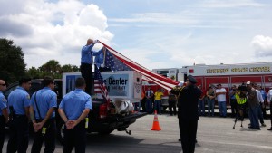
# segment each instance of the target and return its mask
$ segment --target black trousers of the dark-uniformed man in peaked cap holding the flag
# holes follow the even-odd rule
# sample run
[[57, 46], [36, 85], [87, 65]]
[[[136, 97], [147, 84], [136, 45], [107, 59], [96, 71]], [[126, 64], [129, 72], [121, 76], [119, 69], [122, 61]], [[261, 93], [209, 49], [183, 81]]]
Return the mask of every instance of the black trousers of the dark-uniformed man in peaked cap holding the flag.
[[193, 153], [195, 151], [198, 120], [179, 119], [179, 126], [183, 153]]

